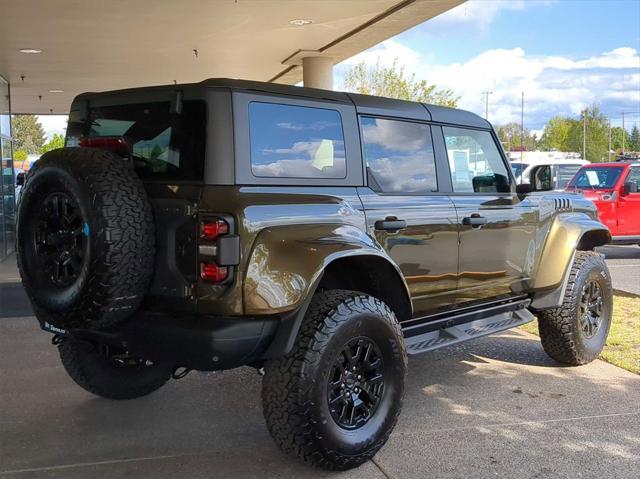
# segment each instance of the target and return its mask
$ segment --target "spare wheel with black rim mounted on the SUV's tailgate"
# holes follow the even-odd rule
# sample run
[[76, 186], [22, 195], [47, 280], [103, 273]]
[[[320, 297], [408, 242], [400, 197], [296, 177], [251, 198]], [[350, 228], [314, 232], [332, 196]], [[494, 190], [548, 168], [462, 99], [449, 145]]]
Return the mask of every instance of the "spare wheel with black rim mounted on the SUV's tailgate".
[[93, 148], [42, 155], [18, 205], [17, 259], [40, 322], [104, 329], [130, 317], [155, 258], [153, 213], [127, 160]]

